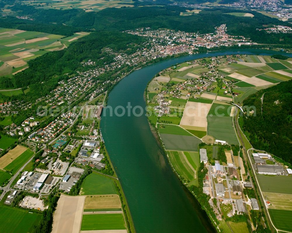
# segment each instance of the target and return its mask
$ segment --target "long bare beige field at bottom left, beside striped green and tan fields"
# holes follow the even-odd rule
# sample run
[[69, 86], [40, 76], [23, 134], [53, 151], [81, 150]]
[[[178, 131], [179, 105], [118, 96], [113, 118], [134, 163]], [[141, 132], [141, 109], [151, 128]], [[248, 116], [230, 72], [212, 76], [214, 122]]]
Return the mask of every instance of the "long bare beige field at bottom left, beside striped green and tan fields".
[[85, 196], [60, 196], [53, 215], [52, 233], [79, 233]]

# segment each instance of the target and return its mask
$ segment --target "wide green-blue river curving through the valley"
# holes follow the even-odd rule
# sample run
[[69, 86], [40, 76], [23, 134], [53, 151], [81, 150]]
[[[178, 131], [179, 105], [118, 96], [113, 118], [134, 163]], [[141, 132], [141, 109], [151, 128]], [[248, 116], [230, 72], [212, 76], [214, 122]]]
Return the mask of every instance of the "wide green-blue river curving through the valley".
[[[257, 49], [229, 50], [154, 63], [123, 78], [110, 92], [108, 106], [113, 109], [117, 106], [126, 108], [130, 102], [131, 106], [145, 109], [144, 91], [147, 83], [159, 71], [177, 63], [220, 55], [275, 53]], [[121, 112], [121, 109], [117, 111], [118, 114]], [[215, 232], [197, 200], [173, 173], [145, 114], [128, 116], [126, 109], [124, 116], [110, 116], [109, 111], [104, 111], [100, 127], [138, 233]]]

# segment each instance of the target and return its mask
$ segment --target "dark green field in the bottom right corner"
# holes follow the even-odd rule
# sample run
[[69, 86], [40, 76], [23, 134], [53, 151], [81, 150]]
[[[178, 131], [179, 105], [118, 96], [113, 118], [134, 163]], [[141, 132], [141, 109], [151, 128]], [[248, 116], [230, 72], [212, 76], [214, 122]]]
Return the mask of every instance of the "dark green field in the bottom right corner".
[[292, 231], [291, 210], [268, 209], [268, 211], [275, 227], [283, 231]]

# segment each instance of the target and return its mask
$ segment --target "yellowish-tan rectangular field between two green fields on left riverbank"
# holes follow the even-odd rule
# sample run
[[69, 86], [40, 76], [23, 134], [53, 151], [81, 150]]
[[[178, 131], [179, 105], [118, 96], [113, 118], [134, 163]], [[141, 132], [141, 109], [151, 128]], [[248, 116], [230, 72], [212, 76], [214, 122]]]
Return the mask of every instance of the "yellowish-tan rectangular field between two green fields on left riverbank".
[[121, 210], [121, 202], [118, 195], [86, 196], [84, 210], [105, 211], [106, 209]]

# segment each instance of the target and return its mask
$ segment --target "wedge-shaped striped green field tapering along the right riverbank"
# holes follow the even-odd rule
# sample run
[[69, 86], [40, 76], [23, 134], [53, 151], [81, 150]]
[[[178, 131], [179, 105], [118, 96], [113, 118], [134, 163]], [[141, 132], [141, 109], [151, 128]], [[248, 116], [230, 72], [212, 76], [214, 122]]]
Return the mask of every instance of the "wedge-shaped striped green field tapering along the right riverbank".
[[167, 153], [171, 161], [171, 164], [178, 172], [178, 174], [180, 174], [180, 176], [182, 176], [185, 179], [185, 181], [190, 183], [196, 179], [197, 172], [196, 158], [198, 160], [198, 156], [195, 156], [191, 152], [192, 154], [191, 157], [190, 152], [186, 152], [185, 154], [185, 152], [183, 151], [167, 151]]

